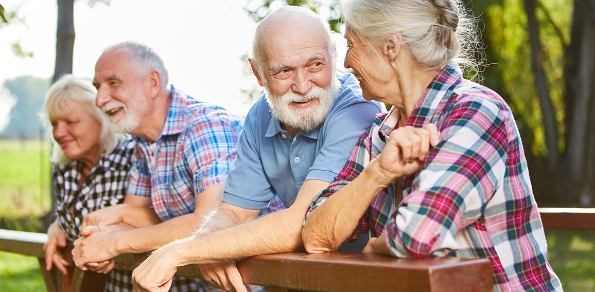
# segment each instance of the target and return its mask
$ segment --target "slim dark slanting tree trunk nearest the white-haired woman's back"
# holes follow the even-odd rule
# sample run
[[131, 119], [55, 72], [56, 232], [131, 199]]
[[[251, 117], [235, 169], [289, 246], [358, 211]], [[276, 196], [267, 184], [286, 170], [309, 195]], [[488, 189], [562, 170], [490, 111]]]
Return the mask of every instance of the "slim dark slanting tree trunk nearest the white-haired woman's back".
[[531, 49], [533, 54], [533, 72], [535, 73], [535, 85], [537, 95], [541, 106], [541, 115], [543, 117], [543, 127], [546, 136], [547, 147], [547, 165], [550, 171], [558, 168], [559, 150], [558, 150], [558, 126], [556, 125], [555, 113], [552, 105], [552, 98], [547, 86], [546, 74], [543, 70], [543, 54], [539, 40], [539, 26], [535, 17], [534, 0], [525, 0], [525, 10], [527, 12], [527, 24], [529, 27], [529, 38], [531, 40]]

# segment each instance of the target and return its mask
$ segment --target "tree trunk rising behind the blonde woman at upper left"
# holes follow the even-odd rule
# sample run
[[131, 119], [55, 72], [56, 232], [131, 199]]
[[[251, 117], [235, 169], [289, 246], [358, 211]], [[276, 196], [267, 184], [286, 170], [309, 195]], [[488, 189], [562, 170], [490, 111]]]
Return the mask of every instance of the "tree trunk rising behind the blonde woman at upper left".
[[56, 30], [56, 65], [54, 79], [73, 72], [74, 0], [58, 0], [58, 27]]

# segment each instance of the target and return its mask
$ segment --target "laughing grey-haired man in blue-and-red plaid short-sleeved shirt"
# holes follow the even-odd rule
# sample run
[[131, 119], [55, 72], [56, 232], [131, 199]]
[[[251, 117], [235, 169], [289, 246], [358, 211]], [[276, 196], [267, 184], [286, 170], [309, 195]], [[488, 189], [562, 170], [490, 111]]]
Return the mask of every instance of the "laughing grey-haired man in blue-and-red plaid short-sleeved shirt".
[[[242, 121], [167, 84], [162, 59], [140, 43], [111, 46], [95, 65], [97, 106], [115, 129], [132, 134], [136, 145], [124, 203], [83, 219], [84, 237], [73, 249], [81, 269], [107, 272], [115, 256], [150, 252], [189, 236], [221, 201]], [[131, 278], [107, 287], [130, 291]], [[172, 287], [213, 290], [206, 282], [181, 277]]]

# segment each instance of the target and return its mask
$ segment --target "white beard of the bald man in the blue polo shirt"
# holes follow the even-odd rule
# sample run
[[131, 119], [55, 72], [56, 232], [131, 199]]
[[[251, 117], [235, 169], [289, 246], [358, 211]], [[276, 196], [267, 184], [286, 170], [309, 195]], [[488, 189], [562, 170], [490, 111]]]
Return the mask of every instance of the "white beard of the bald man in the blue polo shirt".
[[[339, 79], [333, 76], [327, 88], [314, 86], [305, 95], [291, 91], [281, 96], [274, 95], [268, 90], [266, 84], [264, 90], [268, 106], [277, 120], [290, 127], [309, 132], [324, 123], [340, 87]], [[318, 105], [303, 109], [292, 108], [289, 105], [291, 102], [307, 102], [311, 99], [318, 99]]]

